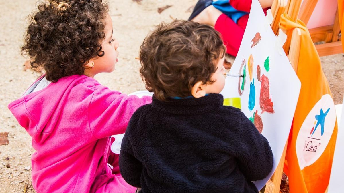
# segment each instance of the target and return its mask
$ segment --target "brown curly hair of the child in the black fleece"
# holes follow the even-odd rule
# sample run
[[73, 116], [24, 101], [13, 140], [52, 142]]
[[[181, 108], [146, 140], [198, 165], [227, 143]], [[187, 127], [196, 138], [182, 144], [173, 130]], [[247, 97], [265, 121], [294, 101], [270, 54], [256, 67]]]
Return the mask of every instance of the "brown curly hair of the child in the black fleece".
[[140, 49], [142, 80], [155, 98], [191, 95], [193, 85], [213, 83], [216, 63], [226, 53], [221, 34], [192, 21], [161, 23]]

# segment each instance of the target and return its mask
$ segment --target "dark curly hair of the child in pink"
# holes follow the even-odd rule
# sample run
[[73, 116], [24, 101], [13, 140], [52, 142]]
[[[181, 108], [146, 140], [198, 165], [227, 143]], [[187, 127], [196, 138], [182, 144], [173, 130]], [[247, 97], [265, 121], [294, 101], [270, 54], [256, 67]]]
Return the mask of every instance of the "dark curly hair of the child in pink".
[[101, 40], [107, 11], [102, 0], [40, 2], [29, 16], [21, 54], [29, 55], [33, 68], [44, 67], [47, 80], [82, 75], [85, 63], [105, 54]]

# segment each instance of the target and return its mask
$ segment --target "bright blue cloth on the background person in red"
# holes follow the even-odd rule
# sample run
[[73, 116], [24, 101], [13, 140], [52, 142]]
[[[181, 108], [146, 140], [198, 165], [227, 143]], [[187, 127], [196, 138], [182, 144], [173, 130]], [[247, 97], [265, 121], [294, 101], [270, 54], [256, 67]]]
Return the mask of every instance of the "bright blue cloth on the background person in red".
[[213, 2], [213, 6], [220, 10], [222, 13], [226, 14], [230, 19], [232, 19], [235, 23], [238, 22], [238, 19], [241, 18], [243, 15], [248, 14], [245, 11], [238, 11], [229, 4], [228, 0], [218, 0]]

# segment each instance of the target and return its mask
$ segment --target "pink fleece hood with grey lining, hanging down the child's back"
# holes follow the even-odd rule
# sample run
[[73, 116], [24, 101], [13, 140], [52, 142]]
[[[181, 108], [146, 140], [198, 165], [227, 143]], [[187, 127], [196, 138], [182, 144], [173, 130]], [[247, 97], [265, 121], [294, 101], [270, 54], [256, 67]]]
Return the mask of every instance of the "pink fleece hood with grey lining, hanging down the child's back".
[[84, 75], [73, 75], [49, 84], [45, 79], [43, 84], [47, 86], [45, 85], [45, 88], [35, 92], [35, 89], [42, 85], [44, 79], [45, 76], [42, 76], [21, 98], [8, 105], [19, 124], [26, 129], [36, 143], [42, 143], [53, 132], [63, 110], [63, 103], [74, 85], [83, 79], [90, 78]]

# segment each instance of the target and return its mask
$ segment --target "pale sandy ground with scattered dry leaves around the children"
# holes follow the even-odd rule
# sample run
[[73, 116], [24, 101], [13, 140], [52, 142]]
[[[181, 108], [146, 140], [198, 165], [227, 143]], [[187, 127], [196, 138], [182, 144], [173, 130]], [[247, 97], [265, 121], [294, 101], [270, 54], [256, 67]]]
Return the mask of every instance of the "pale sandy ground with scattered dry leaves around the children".
[[[109, 0], [114, 34], [120, 43], [119, 63], [112, 73], [95, 78], [110, 89], [123, 93], [143, 90], [139, 76], [139, 46], [147, 33], [161, 21], [173, 18], [187, 19], [187, 12], [196, 0]], [[20, 55], [25, 31], [25, 17], [35, 8], [36, 0], [0, 0], [0, 133], [8, 132], [8, 145], [0, 146], [0, 192], [34, 192], [31, 183], [31, 137], [7, 109], [7, 105], [19, 98], [39, 76], [31, 70], [23, 70], [26, 58]], [[161, 14], [159, 7], [172, 5]], [[329, 79], [335, 103], [341, 103], [344, 92], [344, 57], [342, 54], [321, 58], [325, 75]]]

